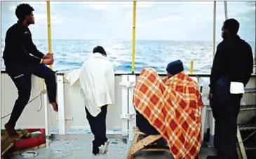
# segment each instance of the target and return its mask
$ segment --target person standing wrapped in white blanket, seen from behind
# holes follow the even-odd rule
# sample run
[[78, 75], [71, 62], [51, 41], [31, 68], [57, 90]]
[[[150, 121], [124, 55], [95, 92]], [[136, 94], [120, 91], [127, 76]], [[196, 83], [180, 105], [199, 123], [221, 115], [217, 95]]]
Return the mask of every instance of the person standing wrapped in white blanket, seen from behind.
[[93, 54], [83, 62], [79, 82], [86, 118], [95, 138], [93, 154], [106, 153], [109, 145], [106, 137], [107, 106], [115, 103], [115, 85], [112, 63], [103, 47], [95, 47]]

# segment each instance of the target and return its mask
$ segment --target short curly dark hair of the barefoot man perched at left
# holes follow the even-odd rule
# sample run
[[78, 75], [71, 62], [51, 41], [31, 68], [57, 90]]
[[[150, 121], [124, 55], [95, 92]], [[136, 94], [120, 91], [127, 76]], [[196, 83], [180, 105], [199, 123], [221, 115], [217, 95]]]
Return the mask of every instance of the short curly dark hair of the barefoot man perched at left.
[[15, 15], [18, 20], [23, 21], [27, 15], [30, 15], [34, 11], [34, 8], [27, 3], [22, 3], [17, 6]]

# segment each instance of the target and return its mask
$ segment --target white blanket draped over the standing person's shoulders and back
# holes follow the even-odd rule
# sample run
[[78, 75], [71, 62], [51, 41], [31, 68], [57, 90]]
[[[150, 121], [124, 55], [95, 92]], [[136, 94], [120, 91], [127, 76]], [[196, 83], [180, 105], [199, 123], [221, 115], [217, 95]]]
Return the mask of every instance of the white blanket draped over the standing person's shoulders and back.
[[114, 70], [102, 54], [92, 54], [83, 62], [79, 85], [84, 104], [92, 116], [97, 116], [102, 106], [115, 103]]

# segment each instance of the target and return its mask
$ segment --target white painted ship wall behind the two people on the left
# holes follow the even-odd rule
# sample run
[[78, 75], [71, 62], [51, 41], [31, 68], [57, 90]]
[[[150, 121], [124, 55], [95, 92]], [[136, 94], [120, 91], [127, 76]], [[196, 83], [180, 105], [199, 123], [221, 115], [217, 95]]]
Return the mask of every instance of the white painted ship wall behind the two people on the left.
[[[121, 76], [116, 76], [116, 104], [109, 105], [107, 109], [107, 129], [121, 128]], [[31, 98], [37, 96], [42, 89], [43, 82], [39, 77], [32, 77], [32, 93]], [[89, 129], [89, 124], [86, 119], [85, 107], [82, 104], [82, 98], [80, 94], [79, 86], [69, 86], [69, 83], [64, 84], [64, 97], [65, 97], [65, 118], [72, 121], [66, 121], [66, 128], [71, 129]], [[11, 78], [6, 73], [1, 73], [1, 116], [11, 113], [16, 98], [18, 97], [17, 89], [13, 84]], [[43, 98], [42, 98], [43, 100]], [[36, 100], [29, 103], [25, 107], [24, 112], [20, 116], [17, 122], [16, 128], [44, 128], [44, 109], [42, 107], [40, 112], [37, 110], [40, 108], [41, 100]], [[54, 112], [51, 108], [50, 124], [51, 128], [58, 128], [58, 113]], [[4, 128], [4, 124], [8, 121], [10, 116], [1, 120], [1, 128]]]

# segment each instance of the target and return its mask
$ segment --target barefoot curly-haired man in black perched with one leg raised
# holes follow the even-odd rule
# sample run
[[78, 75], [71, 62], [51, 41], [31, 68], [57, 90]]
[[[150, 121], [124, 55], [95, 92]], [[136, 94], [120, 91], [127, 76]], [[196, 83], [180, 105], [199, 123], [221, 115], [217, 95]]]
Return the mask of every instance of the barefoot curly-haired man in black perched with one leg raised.
[[50, 53], [45, 55], [37, 50], [28, 28], [30, 24], [34, 24], [33, 11], [34, 8], [26, 3], [17, 6], [15, 15], [18, 17], [18, 22], [6, 32], [4, 64], [6, 73], [18, 89], [18, 99], [15, 101], [11, 117], [5, 125], [6, 132], [10, 137], [17, 135], [15, 124], [29, 101], [32, 74], [45, 79], [48, 99], [53, 105], [53, 109], [58, 112], [55, 72], [45, 66], [53, 64], [53, 55]]

